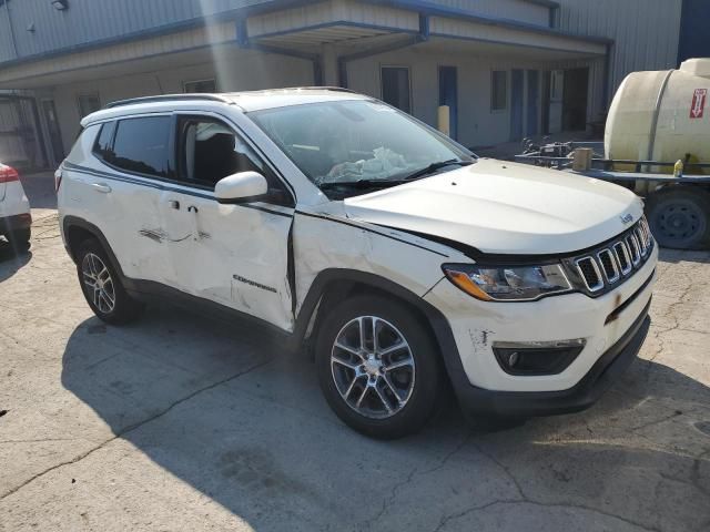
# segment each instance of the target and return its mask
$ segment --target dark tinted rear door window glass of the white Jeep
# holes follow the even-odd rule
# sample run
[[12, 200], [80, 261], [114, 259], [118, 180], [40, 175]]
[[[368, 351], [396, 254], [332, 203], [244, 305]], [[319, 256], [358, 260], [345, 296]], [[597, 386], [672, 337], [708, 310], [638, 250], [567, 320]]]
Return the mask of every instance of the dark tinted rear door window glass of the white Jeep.
[[[126, 172], [169, 177], [172, 173], [169, 150], [171, 124], [170, 116], [120, 120], [115, 125], [113, 146], [104, 160]], [[99, 134], [98, 146], [102, 134], [103, 130]]]

